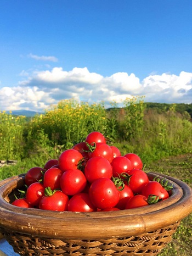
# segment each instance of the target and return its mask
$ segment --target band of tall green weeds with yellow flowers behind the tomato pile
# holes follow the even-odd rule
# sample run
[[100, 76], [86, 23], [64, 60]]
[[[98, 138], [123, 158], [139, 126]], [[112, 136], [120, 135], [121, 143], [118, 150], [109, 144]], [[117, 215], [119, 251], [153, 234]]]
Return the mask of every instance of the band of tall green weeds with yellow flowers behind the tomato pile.
[[127, 98], [123, 108], [111, 103], [79, 103], [74, 99], [50, 106], [45, 114], [29, 121], [22, 116], [0, 112], [0, 160], [52, 158], [89, 132], [100, 131], [120, 147], [122, 154], [133, 152], [145, 163], [169, 155], [192, 152], [192, 123], [189, 116], [169, 110], [145, 109], [143, 97]]

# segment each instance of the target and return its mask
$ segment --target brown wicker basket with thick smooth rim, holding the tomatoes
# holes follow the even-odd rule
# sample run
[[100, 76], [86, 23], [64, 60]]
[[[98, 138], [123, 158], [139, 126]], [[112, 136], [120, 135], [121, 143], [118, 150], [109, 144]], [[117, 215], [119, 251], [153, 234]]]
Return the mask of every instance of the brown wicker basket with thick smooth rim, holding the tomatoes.
[[25, 256], [157, 255], [171, 241], [180, 220], [192, 212], [192, 190], [166, 175], [173, 192], [165, 201], [112, 212], [52, 212], [10, 204], [24, 175], [0, 182], [0, 232]]

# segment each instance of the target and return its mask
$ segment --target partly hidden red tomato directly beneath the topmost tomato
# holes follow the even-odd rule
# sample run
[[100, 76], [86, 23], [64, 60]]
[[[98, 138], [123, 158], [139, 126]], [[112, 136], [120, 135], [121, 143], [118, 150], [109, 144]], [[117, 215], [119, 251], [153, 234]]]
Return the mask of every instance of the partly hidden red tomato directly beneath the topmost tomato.
[[109, 161], [109, 163], [111, 163], [112, 159], [114, 159], [112, 149], [106, 143], [96, 143], [94, 151], [88, 152], [88, 157], [104, 157]]

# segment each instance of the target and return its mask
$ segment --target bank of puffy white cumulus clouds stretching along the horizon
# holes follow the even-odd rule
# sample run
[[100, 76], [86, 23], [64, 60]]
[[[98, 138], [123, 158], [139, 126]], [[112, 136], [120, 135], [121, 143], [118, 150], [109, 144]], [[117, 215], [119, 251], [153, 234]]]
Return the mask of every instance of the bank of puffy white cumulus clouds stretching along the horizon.
[[18, 86], [0, 88], [1, 110], [42, 111], [69, 98], [89, 103], [104, 101], [106, 106], [132, 96], [145, 96], [146, 102], [191, 103], [192, 73], [184, 71], [179, 75], [151, 74], [143, 81], [127, 73], [104, 77], [87, 68], [65, 71], [56, 67], [31, 74], [22, 71], [20, 75], [24, 80]]

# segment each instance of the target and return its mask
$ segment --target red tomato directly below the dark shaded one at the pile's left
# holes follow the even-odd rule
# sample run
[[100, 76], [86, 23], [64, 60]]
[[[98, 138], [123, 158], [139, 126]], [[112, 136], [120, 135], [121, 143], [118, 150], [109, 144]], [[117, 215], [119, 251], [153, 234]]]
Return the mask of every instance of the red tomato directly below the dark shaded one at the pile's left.
[[26, 200], [32, 206], [38, 206], [39, 201], [44, 196], [44, 186], [39, 182], [32, 183], [26, 192]]

